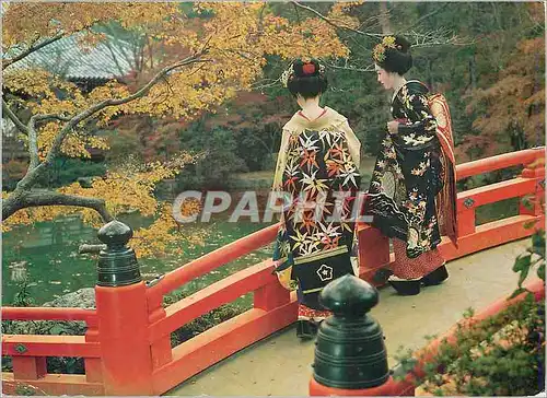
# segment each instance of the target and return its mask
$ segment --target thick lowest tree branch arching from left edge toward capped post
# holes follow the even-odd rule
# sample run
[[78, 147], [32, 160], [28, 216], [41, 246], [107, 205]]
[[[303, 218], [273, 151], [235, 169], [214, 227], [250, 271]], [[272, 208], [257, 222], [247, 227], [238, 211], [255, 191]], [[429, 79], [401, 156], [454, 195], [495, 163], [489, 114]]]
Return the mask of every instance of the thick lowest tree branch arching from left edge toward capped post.
[[53, 191], [30, 191], [13, 192], [3, 201], [2, 221], [11, 216], [18, 210], [36, 208], [39, 206], [74, 206], [88, 208], [95, 210], [104, 222], [114, 220], [108, 210], [106, 210], [106, 204], [103, 199], [65, 195]]

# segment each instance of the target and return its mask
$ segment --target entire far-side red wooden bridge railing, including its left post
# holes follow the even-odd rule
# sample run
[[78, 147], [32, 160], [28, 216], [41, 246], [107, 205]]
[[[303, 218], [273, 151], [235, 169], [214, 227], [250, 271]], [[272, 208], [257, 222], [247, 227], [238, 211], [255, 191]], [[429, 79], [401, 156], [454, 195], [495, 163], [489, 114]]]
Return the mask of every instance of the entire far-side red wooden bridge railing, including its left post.
[[[544, 227], [545, 148], [524, 150], [457, 166], [463, 179], [524, 166], [512, 179], [458, 194], [458, 247], [443, 241], [447, 260], [508, 242]], [[519, 214], [476, 225], [478, 207], [526, 198]], [[3, 319], [83, 320], [85, 336], [2, 336], [3, 355], [13, 373], [3, 373], [3, 390], [16, 394], [30, 385], [48, 395], [161, 395], [233, 353], [283, 329], [296, 319], [295, 294], [286, 291], [266, 260], [238, 271], [163, 308], [164, 295], [223, 265], [270, 244], [277, 225], [268, 226], [167, 273], [158, 283], [96, 286], [96, 309], [2, 307]], [[360, 277], [371, 281], [389, 265], [388, 241], [361, 225]], [[450, 265], [449, 265], [450, 268]], [[170, 336], [190, 320], [253, 293], [253, 308], [172, 348]], [[380, 306], [382, 305], [382, 302]], [[85, 374], [48, 374], [46, 358], [84, 359]], [[309, 378], [309, 376], [306, 376]]]

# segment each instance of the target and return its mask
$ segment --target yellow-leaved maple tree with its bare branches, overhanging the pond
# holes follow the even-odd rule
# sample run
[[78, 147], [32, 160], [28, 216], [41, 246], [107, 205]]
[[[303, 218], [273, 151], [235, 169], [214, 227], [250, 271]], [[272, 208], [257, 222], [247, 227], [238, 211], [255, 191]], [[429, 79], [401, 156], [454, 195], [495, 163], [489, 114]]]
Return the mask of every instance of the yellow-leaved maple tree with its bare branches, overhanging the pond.
[[[153, 196], [153, 187], [194, 161], [177, 153], [167, 162], [126, 164], [94, 178], [91, 188], [78, 184], [57, 190], [38, 180], [58, 156], [89, 157], [90, 149], [108, 149], [108, 141], [90, 132], [89, 122], [106, 126], [119, 115], [146, 114], [191, 119], [249, 90], [261, 75], [267, 56], [347, 57], [336, 26], [316, 16], [290, 22], [267, 3], [13, 3], [3, 4], [2, 110], [20, 132], [28, 154], [25, 175], [11, 192], [2, 192], [4, 230], [78, 211], [100, 224], [127, 209], [155, 222], [137, 231], [140, 254], [162, 253], [174, 238], [170, 207]], [[187, 9], [187, 7], [186, 7]], [[187, 16], [191, 12], [193, 17]], [[340, 19], [339, 5], [333, 17]], [[16, 68], [31, 54], [62, 37], [81, 34], [81, 46], [106, 36], [95, 27], [112, 22], [160, 40], [165, 54], [130, 86], [113, 80], [84, 93], [71, 82], [39, 69]], [[351, 19], [344, 20], [345, 24]], [[61, 92], [63, 95], [59, 95]], [[28, 109], [21, 117], [18, 109]], [[83, 209], [83, 210], [82, 210]], [[135, 246], [135, 244], [132, 244]]]

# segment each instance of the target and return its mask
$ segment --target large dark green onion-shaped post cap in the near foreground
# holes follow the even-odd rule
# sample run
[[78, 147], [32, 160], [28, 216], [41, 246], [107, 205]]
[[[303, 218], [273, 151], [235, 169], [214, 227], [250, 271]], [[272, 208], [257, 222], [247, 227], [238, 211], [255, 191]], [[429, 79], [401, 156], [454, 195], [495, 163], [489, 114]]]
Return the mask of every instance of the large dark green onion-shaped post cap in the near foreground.
[[368, 314], [379, 302], [377, 291], [345, 276], [325, 286], [321, 302], [334, 315], [317, 333], [310, 396], [392, 396], [396, 384], [383, 331]]

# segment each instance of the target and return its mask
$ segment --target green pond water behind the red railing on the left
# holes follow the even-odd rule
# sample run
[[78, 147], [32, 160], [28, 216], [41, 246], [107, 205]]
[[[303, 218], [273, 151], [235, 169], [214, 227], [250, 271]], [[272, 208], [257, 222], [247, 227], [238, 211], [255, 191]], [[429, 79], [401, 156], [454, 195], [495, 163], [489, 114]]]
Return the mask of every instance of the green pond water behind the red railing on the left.
[[[120, 218], [133, 229], [150, 223], [150, 220], [135, 215]], [[269, 224], [216, 221], [207, 224], [209, 238], [203, 246], [183, 245], [182, 255], [163, 258], [139, 259], [144, 280], [184, 266], [240, 237], [244, 237]], [[188, 233], [197, 226], [188, 226]], [[203, 227], [203, 224], [200, 226]], [[96, 256], [79, 255], [81, 243], [100, 243], [96, 230], [82, 224], [78, 218], [61, 218], [53, 222], [37, 223], [34, 227], [22, 226], [2, 235], [2, 304], [9, 305], [21, 290], [21, 280], [26, 278], [27, 290], [40, 305], [62, 294], [81, 288], [93, 288], [96, 282]], [[220, 267], [198, 278], [181, 291], [185, 294], [196, 292], [226, 276], [270, 257], [271, 248], [264, 247], [229, 265]], [[245, 300], [248, 301], [249, 298]]]

